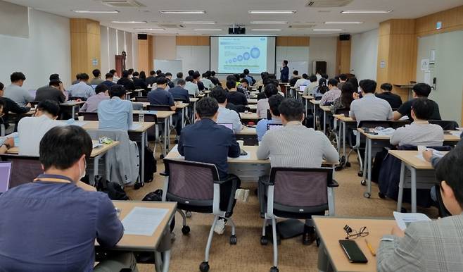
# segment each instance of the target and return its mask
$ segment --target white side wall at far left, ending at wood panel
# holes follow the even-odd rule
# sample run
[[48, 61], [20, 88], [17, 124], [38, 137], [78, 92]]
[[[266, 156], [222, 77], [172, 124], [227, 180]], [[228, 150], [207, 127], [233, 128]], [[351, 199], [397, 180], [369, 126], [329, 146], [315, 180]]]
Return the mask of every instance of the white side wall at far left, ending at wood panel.
[[[4, 12], [0, 9], [0, 17]], [[70, 85], [69, 19], [30, 9], [29, 25], [28, 38], [0, 35], [0, 82], [9, 85], [11, 73], [21, 71], [26, 89], [46, 85], [52, 73], [60, 74], [65, 86]]]

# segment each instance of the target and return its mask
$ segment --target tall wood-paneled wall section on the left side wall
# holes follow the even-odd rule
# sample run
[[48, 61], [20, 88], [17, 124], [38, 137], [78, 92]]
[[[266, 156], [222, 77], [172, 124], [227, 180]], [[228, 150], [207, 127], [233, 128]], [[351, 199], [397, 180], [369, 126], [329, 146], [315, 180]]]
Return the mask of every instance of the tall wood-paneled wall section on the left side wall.
[[[90, 19], [70, 19], [71, 78], [101, 67], [100, 23]], [[96, 66], [93, 61], [98, 61]]]

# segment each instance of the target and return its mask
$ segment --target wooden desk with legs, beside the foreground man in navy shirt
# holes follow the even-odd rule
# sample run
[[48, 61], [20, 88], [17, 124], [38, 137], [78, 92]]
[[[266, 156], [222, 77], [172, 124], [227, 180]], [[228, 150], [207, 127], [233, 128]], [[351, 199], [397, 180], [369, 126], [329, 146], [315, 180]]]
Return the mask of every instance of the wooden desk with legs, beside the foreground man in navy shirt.
[[[113, 201], [115, 207], [120, 209], [120, 220], [122, 221], [127, 214], [129, 214], [135, 207], [168, 209], [167, 214], [164, 216], [163, 221], [158, 225], [158, 228], [151, 236], [142, 235], [127, 235], [124, 234], [118, 245], [111, 250], [123, 251], [151, 251], [154, 252], [158, 264], [156, 264], [156, 271], [169, 271], [170, 262], [170, 249], [172, 244], [170, 242], [170, 226], [169, 223], [175, 216], [175, 209], [177, 209], [176, 202], [136, 202], [136, 201]], [[98, 243], [96, 242], [96, 245]], [[161, 253], [162, 266], [161, 266]]]

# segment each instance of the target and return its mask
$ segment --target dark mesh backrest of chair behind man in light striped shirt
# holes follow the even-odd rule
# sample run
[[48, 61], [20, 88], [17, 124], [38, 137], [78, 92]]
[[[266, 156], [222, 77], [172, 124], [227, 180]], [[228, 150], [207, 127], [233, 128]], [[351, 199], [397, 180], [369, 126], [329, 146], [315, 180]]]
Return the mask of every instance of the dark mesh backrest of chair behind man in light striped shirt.
[[326, 172], [278, 171], [274, 202], [287, 206], [319, 206], [328, 203]]

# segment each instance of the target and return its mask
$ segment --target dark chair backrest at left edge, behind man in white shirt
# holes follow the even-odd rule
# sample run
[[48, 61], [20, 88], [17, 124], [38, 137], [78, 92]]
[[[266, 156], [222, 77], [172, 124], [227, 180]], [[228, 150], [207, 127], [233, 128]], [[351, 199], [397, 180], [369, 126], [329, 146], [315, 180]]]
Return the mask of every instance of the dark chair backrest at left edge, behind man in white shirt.
[[39, 157], [1, 155], [2, 161], [11, 161], [11, 180], [10, 188], [31, 183], [34, 178], [44, 173]]

